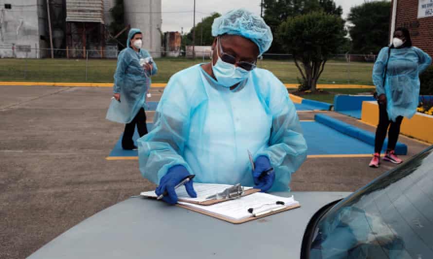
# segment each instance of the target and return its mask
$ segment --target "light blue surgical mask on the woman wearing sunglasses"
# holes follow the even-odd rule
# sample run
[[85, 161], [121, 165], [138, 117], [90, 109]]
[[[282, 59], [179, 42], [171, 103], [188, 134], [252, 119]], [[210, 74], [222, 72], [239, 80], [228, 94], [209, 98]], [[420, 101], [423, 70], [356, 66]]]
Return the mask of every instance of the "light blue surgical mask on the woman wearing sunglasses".
[[[218, 44], [218, 42], [216, 44]], [[212, 62], [212, 70], [216, 81], [218, 81], [220, 85], [231, 87], [248, 78], [250, 74], [249, 71], [221, 60], [218, 54], [218, 46], [216, 49], [216, 55], [218, 60], [215, 65], [213, 65], [214, 63]]]

